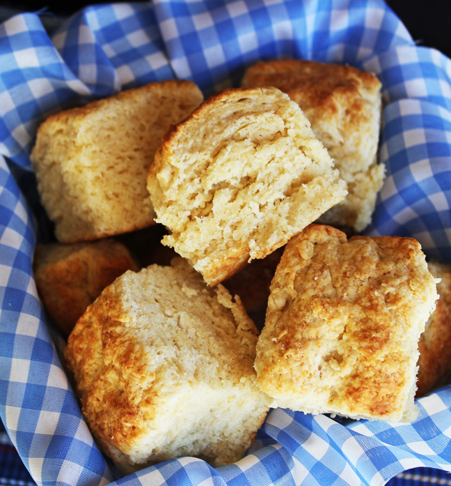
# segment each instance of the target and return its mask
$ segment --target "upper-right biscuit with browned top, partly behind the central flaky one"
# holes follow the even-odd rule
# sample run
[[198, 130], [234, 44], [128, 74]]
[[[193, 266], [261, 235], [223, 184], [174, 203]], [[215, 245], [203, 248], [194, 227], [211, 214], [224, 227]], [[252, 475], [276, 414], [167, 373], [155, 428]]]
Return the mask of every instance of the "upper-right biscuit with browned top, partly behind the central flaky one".
[[243, 86], [276, 86], [299, 104], [348, 185], [319, 221], [361, 231], [371, 220], [385, 167], [377, 164], [381, 83], [352, 66], [278, 59], [248, 68]]

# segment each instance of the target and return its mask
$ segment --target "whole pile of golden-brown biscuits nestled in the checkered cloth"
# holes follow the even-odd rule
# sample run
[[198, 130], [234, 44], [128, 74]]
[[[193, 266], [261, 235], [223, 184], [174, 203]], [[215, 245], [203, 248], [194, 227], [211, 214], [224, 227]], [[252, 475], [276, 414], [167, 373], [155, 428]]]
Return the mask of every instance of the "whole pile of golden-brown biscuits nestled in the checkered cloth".
[[374, 75], [283, 59], [207, 100], [169, 80], [42, 123], [31, 160], [56, 241], [35, 278], [122, 471], [236, 462], [271, 407], [412, 421], [448, 376], [448, 357], [432, 364], [448, 268], [359, 234], [380, 121]]

